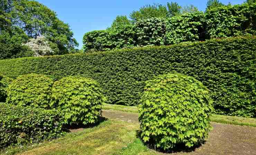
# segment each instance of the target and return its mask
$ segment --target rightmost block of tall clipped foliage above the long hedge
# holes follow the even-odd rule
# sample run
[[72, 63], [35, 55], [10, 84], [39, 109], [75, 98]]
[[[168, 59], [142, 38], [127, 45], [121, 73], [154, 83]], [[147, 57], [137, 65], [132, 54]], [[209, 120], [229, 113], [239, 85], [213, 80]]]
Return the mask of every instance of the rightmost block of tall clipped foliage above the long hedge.
[[209, 38], [256, 34], [256, 3], [213, 8], [205, 16]]

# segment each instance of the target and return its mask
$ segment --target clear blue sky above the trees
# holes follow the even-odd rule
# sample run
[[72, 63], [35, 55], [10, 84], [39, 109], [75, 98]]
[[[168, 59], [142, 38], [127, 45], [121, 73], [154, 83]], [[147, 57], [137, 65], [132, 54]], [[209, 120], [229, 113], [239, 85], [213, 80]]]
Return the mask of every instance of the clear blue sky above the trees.
[[[58, 18], [68, 23], [74, 32], [74, 38], [81, 49], [83, 35], [92, 30], [104, 30], [111, 26], [117, 15], [127, 15], [146, 4], [175, 0], [37, 0], [58, 14]], [[176, 0], [181, 6], [193, 4], [204, 11], [207, 0]], [[241, 4], [245, 0], [220, 0], [228, 4]]]

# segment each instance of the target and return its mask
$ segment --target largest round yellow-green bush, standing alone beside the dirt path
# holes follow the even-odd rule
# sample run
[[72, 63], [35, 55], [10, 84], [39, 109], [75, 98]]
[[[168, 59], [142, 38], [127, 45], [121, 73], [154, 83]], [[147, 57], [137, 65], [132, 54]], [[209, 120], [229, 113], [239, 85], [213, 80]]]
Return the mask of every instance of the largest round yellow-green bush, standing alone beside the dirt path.
[[166, 74], [146, 81], [140, 103], [140, 137], [158, 149], [198, 145], [211, 129], [209, 91], [193, 77]]

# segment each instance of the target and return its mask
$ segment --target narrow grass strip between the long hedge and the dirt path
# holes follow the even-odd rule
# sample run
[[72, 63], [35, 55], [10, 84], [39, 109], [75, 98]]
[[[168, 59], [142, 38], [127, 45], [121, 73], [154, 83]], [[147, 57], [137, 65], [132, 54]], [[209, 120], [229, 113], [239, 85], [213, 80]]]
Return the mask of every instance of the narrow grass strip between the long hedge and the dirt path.
[[[104, 110], [114, 110], [114, 111], [138, 113], [137, 106], [104, 104], [103, 109]], [[213, 114], [211, 116], [211, 122], [256, 127], [256, 118], [246, 118], [246, 117], [225, 116], [225, 115]]]

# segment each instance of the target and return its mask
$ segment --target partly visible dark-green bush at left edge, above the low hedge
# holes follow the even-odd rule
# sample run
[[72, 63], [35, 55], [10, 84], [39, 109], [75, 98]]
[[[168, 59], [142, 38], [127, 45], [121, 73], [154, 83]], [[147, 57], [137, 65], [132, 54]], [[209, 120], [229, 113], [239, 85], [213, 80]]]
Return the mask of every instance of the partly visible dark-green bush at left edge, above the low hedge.
[[0, 102], [6, 102], [7, 88], [12, 82], [12, 78], [0, 75]]

